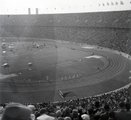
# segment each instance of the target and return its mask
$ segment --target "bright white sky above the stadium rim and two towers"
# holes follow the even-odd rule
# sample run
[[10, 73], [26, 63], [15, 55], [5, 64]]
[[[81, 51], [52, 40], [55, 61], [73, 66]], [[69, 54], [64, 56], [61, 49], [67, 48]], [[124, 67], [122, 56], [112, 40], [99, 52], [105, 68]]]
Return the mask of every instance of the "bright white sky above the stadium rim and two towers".
[[[39, 13], [59, 13], [59, 12], [78, 12], [103, 9], [98, 7], [100, 2], [113, 0], [0, 0], [0, 14], [12, 13], [28, 13], [28, 8], [31, 8], [31, 13], [35, 13], [35, 8], [39, 8]], [[121, 1], [121, 0], [116, 0]], [[123, 0], [125, 4], [130, 0]], [[123, 9], [122, 6], [104, 7], [104, 9]], [[127, 5], [124, 9], [130, 9], [131, 5]]]

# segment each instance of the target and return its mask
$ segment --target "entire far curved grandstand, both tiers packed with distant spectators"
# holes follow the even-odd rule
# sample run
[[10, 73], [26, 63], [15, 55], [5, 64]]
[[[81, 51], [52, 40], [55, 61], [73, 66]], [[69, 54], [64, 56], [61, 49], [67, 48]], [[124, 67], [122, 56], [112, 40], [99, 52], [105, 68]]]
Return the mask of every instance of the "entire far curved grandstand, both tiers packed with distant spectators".
[[131, 11], [1, 15], [1, 37], [84, 42], [130, 53]]

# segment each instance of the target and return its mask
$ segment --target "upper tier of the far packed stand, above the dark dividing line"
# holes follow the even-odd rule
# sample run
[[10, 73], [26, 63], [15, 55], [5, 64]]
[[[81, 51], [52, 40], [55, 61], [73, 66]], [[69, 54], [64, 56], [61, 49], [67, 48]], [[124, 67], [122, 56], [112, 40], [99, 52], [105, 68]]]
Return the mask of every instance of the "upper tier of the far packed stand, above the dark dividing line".
[[131, 11], [1, 15], [0, 26], [131, 28]]

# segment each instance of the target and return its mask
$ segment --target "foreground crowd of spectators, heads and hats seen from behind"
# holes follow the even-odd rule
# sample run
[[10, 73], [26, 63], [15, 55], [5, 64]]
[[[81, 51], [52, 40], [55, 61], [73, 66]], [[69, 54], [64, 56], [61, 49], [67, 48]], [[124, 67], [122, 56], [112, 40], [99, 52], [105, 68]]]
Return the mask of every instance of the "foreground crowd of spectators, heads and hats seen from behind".
[[[128, 88], [55, 103], [1, 105], [1, 120], [130, 120]], [[29, 119], [30, 118], [30, 119]]]

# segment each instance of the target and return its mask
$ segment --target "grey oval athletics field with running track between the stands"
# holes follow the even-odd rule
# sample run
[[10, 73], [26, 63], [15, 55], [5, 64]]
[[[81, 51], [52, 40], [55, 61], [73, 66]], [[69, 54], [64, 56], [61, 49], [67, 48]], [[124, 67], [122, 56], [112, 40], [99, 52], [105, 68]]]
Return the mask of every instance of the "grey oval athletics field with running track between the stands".
[[82, 98], [130, 83], [130, 56], [98, 46], [39, 38], [1, 38], [0, 103]]

